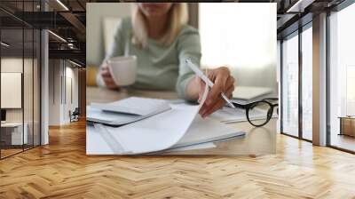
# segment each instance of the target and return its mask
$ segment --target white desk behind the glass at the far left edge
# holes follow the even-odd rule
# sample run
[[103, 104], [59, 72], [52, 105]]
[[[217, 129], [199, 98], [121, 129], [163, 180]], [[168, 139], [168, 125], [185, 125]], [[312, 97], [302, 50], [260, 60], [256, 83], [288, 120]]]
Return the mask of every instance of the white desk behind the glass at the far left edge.
[[6, 144], [28, 144], [28, 123], [23, 123], [23, 127], [24, 131], [22, 135], [22, 123], [1, 123], [2, 137], [3, 135], [11, 135], [11, 143]]

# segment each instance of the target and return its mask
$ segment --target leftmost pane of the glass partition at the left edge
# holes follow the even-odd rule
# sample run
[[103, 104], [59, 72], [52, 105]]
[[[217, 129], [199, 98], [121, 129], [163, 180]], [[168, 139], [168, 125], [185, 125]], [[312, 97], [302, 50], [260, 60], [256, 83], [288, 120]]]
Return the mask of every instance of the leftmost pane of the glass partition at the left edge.
[[[23, 28], [1, 30], [1, 156], [6, 157], [23, 151], [28, 143], [24, 128]], [[4, 45], [5, 44], [5, 45]]]

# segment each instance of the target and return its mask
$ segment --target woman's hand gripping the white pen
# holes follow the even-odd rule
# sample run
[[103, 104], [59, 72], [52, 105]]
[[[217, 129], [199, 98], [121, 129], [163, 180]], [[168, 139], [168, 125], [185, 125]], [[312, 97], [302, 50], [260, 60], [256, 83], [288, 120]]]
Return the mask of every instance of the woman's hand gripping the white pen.
[[[205, 103], [202, 105], [199, 114], [206, 117], [217, 109], [225, 106], [225, 100], [221, 98], [221, 92], [224, 92], [228, 99], [232, 98], [234, 91], [234, 78], [228, 68], [221, 67], [206, 71], [206, 76], [214, 83], [210, 89]], [[196, 81], [200, 84], [199, 101], [205, 90], [206, 84], [200, 77], [196, 76]]]

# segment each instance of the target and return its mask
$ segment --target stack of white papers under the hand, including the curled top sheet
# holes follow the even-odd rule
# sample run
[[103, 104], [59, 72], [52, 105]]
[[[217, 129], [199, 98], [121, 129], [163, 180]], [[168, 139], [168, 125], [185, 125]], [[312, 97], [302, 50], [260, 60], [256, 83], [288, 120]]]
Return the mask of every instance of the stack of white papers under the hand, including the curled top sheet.
[[122, 127], [87, 128], [88, 155], [152, 153], [193, 146], [244, 134], [224, 123], [197, 115], [198, 106], [170, 105], [172, 109]]

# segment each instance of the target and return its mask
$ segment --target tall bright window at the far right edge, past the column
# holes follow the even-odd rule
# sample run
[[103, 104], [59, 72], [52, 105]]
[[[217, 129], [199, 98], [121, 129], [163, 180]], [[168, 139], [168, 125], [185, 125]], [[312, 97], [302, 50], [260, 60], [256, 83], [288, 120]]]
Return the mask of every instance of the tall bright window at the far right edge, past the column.
[[330, 146], [355, 151], [355, 4], [329, 16]]

